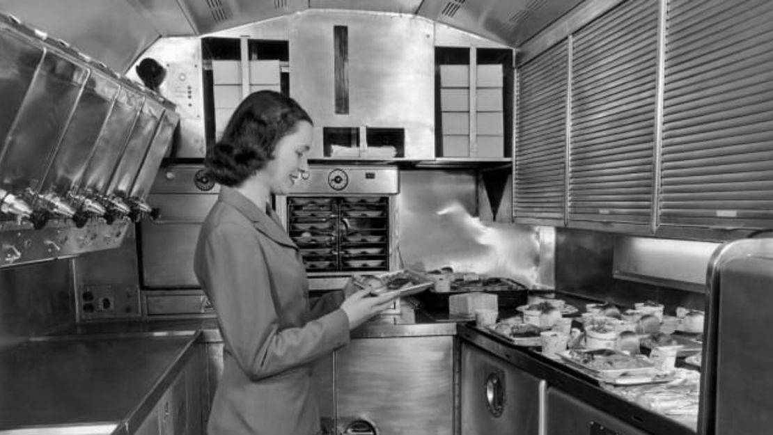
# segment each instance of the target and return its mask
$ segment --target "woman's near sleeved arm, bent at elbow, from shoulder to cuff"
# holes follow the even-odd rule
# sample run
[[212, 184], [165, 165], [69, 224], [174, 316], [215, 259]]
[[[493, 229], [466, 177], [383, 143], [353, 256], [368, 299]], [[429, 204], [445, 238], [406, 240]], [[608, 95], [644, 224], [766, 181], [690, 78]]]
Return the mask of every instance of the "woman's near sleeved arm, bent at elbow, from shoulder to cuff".
[[318, 359], [349, 342], [349, 320], [335, 310], [300, 328], [280, 330], [270, 270], [254, 232], [237, 224], [213, 230], [203, 246], [203, 285], [226, 344], [251, 379]]

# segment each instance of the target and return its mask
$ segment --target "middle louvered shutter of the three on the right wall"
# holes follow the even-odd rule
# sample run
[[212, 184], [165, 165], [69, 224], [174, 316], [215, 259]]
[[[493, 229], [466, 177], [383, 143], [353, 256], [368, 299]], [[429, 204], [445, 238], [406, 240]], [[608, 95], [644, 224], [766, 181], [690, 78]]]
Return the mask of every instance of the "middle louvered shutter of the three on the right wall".
[[630, 0], [574, 35], [570, 221], [652, 219], [658, 14]]

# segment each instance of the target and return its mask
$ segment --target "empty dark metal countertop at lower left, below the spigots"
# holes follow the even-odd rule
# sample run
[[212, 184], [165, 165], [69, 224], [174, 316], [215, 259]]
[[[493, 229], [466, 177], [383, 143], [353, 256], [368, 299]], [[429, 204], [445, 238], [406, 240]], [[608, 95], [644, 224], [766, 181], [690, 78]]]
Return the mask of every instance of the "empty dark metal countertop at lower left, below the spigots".
[[0, 433], [128, 430], [145, 419], [198, 336], [63, 336], [0, 352]]

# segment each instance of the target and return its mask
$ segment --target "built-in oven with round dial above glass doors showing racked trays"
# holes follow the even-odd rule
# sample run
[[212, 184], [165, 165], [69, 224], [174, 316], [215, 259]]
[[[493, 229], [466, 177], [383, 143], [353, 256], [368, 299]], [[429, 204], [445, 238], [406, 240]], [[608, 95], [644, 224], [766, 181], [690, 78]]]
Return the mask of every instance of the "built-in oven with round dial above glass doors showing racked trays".
[[311, 290], [341, 288], [352, 274], [399, 269], [393, 166], [314, 166], [275, 199], [301, 250]]

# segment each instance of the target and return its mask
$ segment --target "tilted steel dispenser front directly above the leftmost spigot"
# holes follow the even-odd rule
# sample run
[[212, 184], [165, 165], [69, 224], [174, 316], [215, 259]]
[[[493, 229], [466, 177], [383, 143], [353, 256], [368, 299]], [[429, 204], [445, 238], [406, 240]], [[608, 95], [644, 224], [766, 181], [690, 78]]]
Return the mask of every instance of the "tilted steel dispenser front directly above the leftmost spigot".
[[83, 66], [46, 52], [0, 151], [0, 187], [39, 189], [88, 75]]

